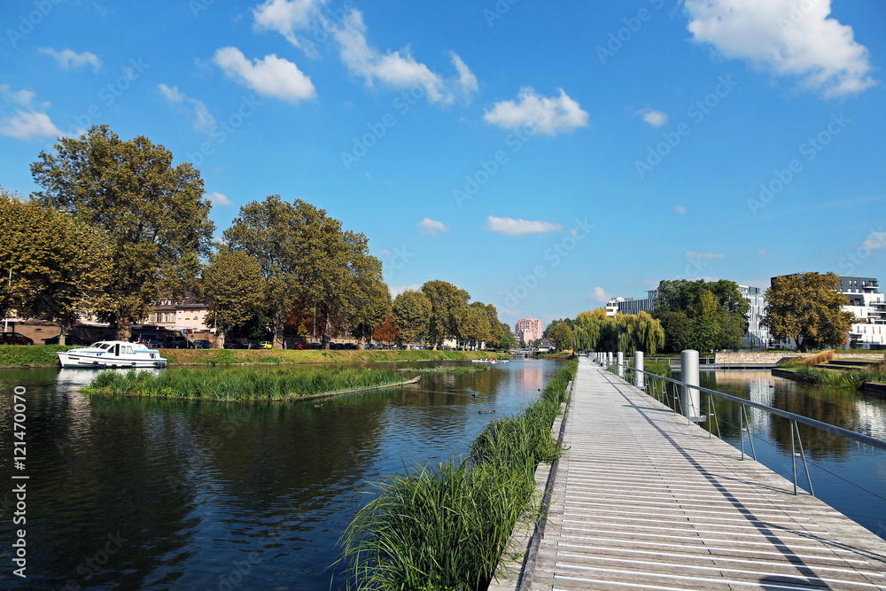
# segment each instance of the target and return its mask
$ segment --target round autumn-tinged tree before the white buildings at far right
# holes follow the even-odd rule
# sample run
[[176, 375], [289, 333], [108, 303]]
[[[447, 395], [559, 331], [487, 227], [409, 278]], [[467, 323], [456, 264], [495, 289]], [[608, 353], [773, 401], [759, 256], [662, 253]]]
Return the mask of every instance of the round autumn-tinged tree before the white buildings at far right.
[[844, 312], [849, 300], [840, 292], [834, 273], [804, 273], [776, 277], [766, 290], [766, 310], [760, 324], [774, 338], [793, 338], [797, 349], [843, 344], [855, 316]]

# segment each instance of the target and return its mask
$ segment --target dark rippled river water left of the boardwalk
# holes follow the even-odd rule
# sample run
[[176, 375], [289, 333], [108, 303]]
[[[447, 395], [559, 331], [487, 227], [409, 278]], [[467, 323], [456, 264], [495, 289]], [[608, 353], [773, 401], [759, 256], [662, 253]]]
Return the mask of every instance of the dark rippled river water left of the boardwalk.
[[[338, 589], [337, 542], [372, 498], [370, 483], [464, 453], [561, 365], [515, 360], [425, 375], [421, 385], [340, 396], [323, 408], [89, 398], [77, 390], [90, 370], [0, 369], [0, 589]], [[16, 386], [27, 406], [20, 471]], [[29, 478], [12, 480], [13, 472]], [[11, 491], [21, 482], [27, 524], [13, 528]], [[24, 580], [11, 574], [19, 527]]]

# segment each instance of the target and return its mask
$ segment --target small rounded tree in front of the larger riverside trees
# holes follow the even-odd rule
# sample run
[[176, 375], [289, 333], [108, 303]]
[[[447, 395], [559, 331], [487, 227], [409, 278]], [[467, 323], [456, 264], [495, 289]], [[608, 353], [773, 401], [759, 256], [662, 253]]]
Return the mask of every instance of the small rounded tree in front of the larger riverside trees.
[[198, 295], [209, 305], [206, 323], [215, 326], [213, 348], [223, 349], [231, 329], [254, 314], [261, 302], [258, 261], [242, 251], [222, 246], [203, 271]]

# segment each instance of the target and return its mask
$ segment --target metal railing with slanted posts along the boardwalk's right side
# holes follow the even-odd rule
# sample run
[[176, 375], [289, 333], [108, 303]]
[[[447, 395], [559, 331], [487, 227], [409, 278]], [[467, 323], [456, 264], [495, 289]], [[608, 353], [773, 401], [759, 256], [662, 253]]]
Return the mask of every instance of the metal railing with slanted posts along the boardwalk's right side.
[[[601, 363], [599, 360], [595, 360], [595, 362]], [[604, 366], [605, 367], [605, 366]], [[803, 463], [803, 469], [806, 476], [806, 482], [809, 485], [809, 494], [815, 496], [815, 492], [812, 488], [812, 478], [809, 475], [809, 466], [806, 462], [806, 455], [803, 448], [803, 441], [800, 439], [800, 431], [798, 424], [804, 424], [815, 429], [819, 429], [824, 432], [832, 433], [834, 435], [839, 435], [846, 439], [851, 439], [852, 441], [858, 441], [859, 443], [863, 443], [865, 445], [876, 447], [878, 449], [886, 450], [886, 441], [882, 441], [881, 439], [876, 439], [874, 437], [870, 437], [869, 435], [864, 435], [862, 433], [850, 431], [848, 429], [843, 429], [843, 427], [838, 427], [834, 424], [823, 423], [821, 421], [816, 421], [815, 419], [809, 418], [807, 416], [797, 415], [792, 412], [788, 412], [787, 410], [781, 410], [781, 408], [774, 408], [770, 406], [766, 406], [766, 404], [760, 404], [759, 402], [754, 402], [752, 400], [746, 400], [743, 398], [739, 398], [737, 396], [733, 396], [731, 394], [717, 392], [716, 390], [711, 390], [710, 388], [705, 388], [700, 385], [688, 384], [687, 382], [682, 382], [677, 379], [673, 379], [672, 377], [664, 377], [658, 376], [657, 374], [650, 373], [648, 371], [643, 371], [642, 369], [635, 369], [630, 366], [626, 366], [626, 372], [629, 372], [629, 378], [631, 379], [631, 383], [636, 385], [638, 374], [642, 374], [644, 385], [644, 390], [647, 393], [651, 391], [651, 396], [667, 406], [672, 408], [673, 412], [676, 414], [677, 406], [680, 405], [680, 414], [686, 415], [683, 408], [683, 401], [680, 397], [680, 389], [684, 391], [696, 390], [699, 395], [701, 393], [706, 393], [708, 395], [708, 416], [704, 417], [708, 422], [708, 437], [710, 438], [713, 434], [713, 430], [716, 427], [717, 429], [717, 437], [720, 437], [719, 431], [719, 419], [717, 417], [717, 408], [713, 404], [713, 397], [718, 396], [722, 400], [730, 400], [734, 403], [737, 403], [740, 406], [739, 410], [739, 437], [741, 439], [741, 453], [742, 460], [744, 460], [744, 456], [746, 455], [744, 452], [744, 433], [747, 432], [748, 440], [750, 442], [750, 456], [756, 460], [757, 459], [757, 451], [754, 449], [754, 438], [752, 433], [750, 432], [750, 422], [748, 420], [748, 408], [758, 408], [759, 410], [764, 410], [768, 413], [773, 414], [774, 416], [781, 416], [790, 421], [790, 455], [791, 455], [791, 469], [793, 472], [793, 481], [794, 481], [794, 494], [797, 494], [797, 458], [799, 458]], [[626, 373], [627, 375], [627, 373]], [[673, 392], [668, 392], [667, 384], [673, 385]], [[677, 386], [680, 386], [678, 388]], [[668, 404], [668, 396], [671, 397], [672, 404]], [[711, 417], [713, 421], [711, 421]], [[692, 419], [687, 417], [688, 422], [691, 422]], [[799, 448], [799, 454], [797, 454], [797, 448]]]

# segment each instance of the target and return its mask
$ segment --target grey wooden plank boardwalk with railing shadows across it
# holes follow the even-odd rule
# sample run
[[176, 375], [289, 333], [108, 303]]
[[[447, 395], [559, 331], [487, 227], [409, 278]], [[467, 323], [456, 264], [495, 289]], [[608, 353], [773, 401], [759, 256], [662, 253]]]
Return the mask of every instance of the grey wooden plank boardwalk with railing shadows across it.
[[681, 418], [581, 358], [544, 537], [490, 589], [886, 590], [886, 541]]

